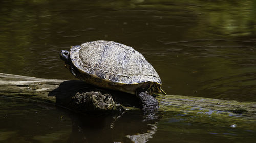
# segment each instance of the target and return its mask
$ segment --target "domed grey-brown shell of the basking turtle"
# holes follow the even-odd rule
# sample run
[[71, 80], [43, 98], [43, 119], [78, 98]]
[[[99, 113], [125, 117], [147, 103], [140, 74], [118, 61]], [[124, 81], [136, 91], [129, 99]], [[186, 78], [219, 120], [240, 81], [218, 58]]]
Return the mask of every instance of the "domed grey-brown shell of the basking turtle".
[[72, 46], [70, 59], [80, 73], [79, 79], [100, 87], [162, 84], [156, 70], [141, 53], [117, 42], [98, 40]]

